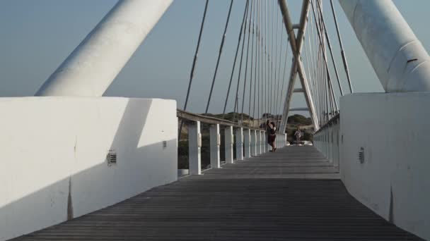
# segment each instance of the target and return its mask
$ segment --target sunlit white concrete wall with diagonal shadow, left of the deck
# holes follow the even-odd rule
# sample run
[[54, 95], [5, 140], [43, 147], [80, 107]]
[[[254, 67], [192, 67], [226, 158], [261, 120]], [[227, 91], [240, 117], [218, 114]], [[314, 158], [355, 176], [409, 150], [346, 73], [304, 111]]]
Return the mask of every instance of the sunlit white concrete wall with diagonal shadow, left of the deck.
[[1, 98], [0, 113], [0, 240], [177, 180], [175, 101]]

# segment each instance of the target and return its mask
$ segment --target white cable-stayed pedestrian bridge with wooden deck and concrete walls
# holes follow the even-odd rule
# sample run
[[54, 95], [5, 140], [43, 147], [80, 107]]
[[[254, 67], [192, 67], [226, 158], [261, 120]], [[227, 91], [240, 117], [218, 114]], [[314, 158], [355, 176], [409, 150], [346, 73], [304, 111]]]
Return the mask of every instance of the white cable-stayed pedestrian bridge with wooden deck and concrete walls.
[[[103, 97], [171, 3], [118, 1], [35, 97], [0, 98], [0, 240], [430, 240], [430, 57], [392, 1], [228, 1], [192, 99], [207, 0], [183, 106]], [[385, 92], [354, 91], [337, 8]]]

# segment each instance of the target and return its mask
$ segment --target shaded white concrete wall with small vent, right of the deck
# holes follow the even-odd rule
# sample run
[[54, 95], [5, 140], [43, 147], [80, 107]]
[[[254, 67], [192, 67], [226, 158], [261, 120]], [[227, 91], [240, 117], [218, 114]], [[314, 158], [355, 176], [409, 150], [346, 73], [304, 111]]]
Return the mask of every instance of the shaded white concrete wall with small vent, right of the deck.
[[[388, 221], [430, 240], [430, 93], [342, 97], [341, 175]], [[342, 142], [343, 135], [343, 142]], [[364, 163], [359, 149], [364, 147]]]

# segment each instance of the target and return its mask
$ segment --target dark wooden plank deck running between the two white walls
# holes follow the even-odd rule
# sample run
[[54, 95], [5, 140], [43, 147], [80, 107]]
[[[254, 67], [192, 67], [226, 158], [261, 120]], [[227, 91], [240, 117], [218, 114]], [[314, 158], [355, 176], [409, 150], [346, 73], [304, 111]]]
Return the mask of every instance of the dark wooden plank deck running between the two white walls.
[[313, 147], [286, 147], [16, 240], [420, 239], [351, 197]]

